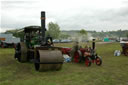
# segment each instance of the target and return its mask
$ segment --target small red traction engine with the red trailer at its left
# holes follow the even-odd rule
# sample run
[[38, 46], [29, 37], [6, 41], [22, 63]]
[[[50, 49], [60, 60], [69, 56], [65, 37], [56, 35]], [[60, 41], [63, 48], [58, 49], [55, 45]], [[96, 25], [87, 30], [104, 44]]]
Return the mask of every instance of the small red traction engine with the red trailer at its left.
[[91, 66], [91, 63], [96, 63], [100, 66], [102, 64], [102, 59], [95, 53], [95, 39], [93, 39], [92, 48], [79, 48], [72, 53], [73, 48], [62, 48], [62, 53], [67, 54], [72, 57], [72, 61], [76, 63], [85, 62], [86, 66]]

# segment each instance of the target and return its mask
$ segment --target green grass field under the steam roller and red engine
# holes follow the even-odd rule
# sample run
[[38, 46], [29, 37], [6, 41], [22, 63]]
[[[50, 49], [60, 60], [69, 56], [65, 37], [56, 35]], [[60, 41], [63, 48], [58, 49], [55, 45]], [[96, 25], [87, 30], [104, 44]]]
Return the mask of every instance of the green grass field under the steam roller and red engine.
[[[71, 44], [56, 46], [71, 47]], [[0, 85], [128, 85], [128, 56], [113, 56], [119, 43], [98, 44], [102, 66], [65, 63], [60, 71], [37, 72], [32, 63], [19, 63], [14, 49], [0, 49]]]

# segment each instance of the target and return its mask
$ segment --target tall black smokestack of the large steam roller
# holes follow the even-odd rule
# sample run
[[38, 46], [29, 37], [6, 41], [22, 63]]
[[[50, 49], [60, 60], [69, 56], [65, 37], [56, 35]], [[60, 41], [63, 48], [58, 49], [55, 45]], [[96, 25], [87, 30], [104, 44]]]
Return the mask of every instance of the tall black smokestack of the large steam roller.
[[45, 11], [41, 12], [41, 31], [42, 31], [42, 42], [45, 43]]

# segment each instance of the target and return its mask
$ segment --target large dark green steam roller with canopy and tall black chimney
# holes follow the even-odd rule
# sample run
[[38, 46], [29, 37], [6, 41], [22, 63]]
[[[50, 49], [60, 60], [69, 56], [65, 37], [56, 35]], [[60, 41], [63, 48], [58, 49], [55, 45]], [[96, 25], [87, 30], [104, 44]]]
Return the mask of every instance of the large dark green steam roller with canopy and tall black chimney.
[[15, 48], [15, 59], [19, 62], [33, 62], [37, 71], [60, 70], [64, 58], [61, 48], [54, 47], [52, 37], [45, 37], [45, 12], [41, 12], [41, 27], [27, 26], [22, 42]]

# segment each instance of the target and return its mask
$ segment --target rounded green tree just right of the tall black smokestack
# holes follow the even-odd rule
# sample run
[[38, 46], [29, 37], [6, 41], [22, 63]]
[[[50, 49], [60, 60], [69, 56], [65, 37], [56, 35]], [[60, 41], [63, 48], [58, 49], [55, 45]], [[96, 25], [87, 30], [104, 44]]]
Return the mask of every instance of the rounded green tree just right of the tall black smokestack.
[[59, 38], [60, 35], [60, 27], [57, 23], [50, 22], [48, 23], [48, 31], [46, 35], [50, 35], [53, 39]]

